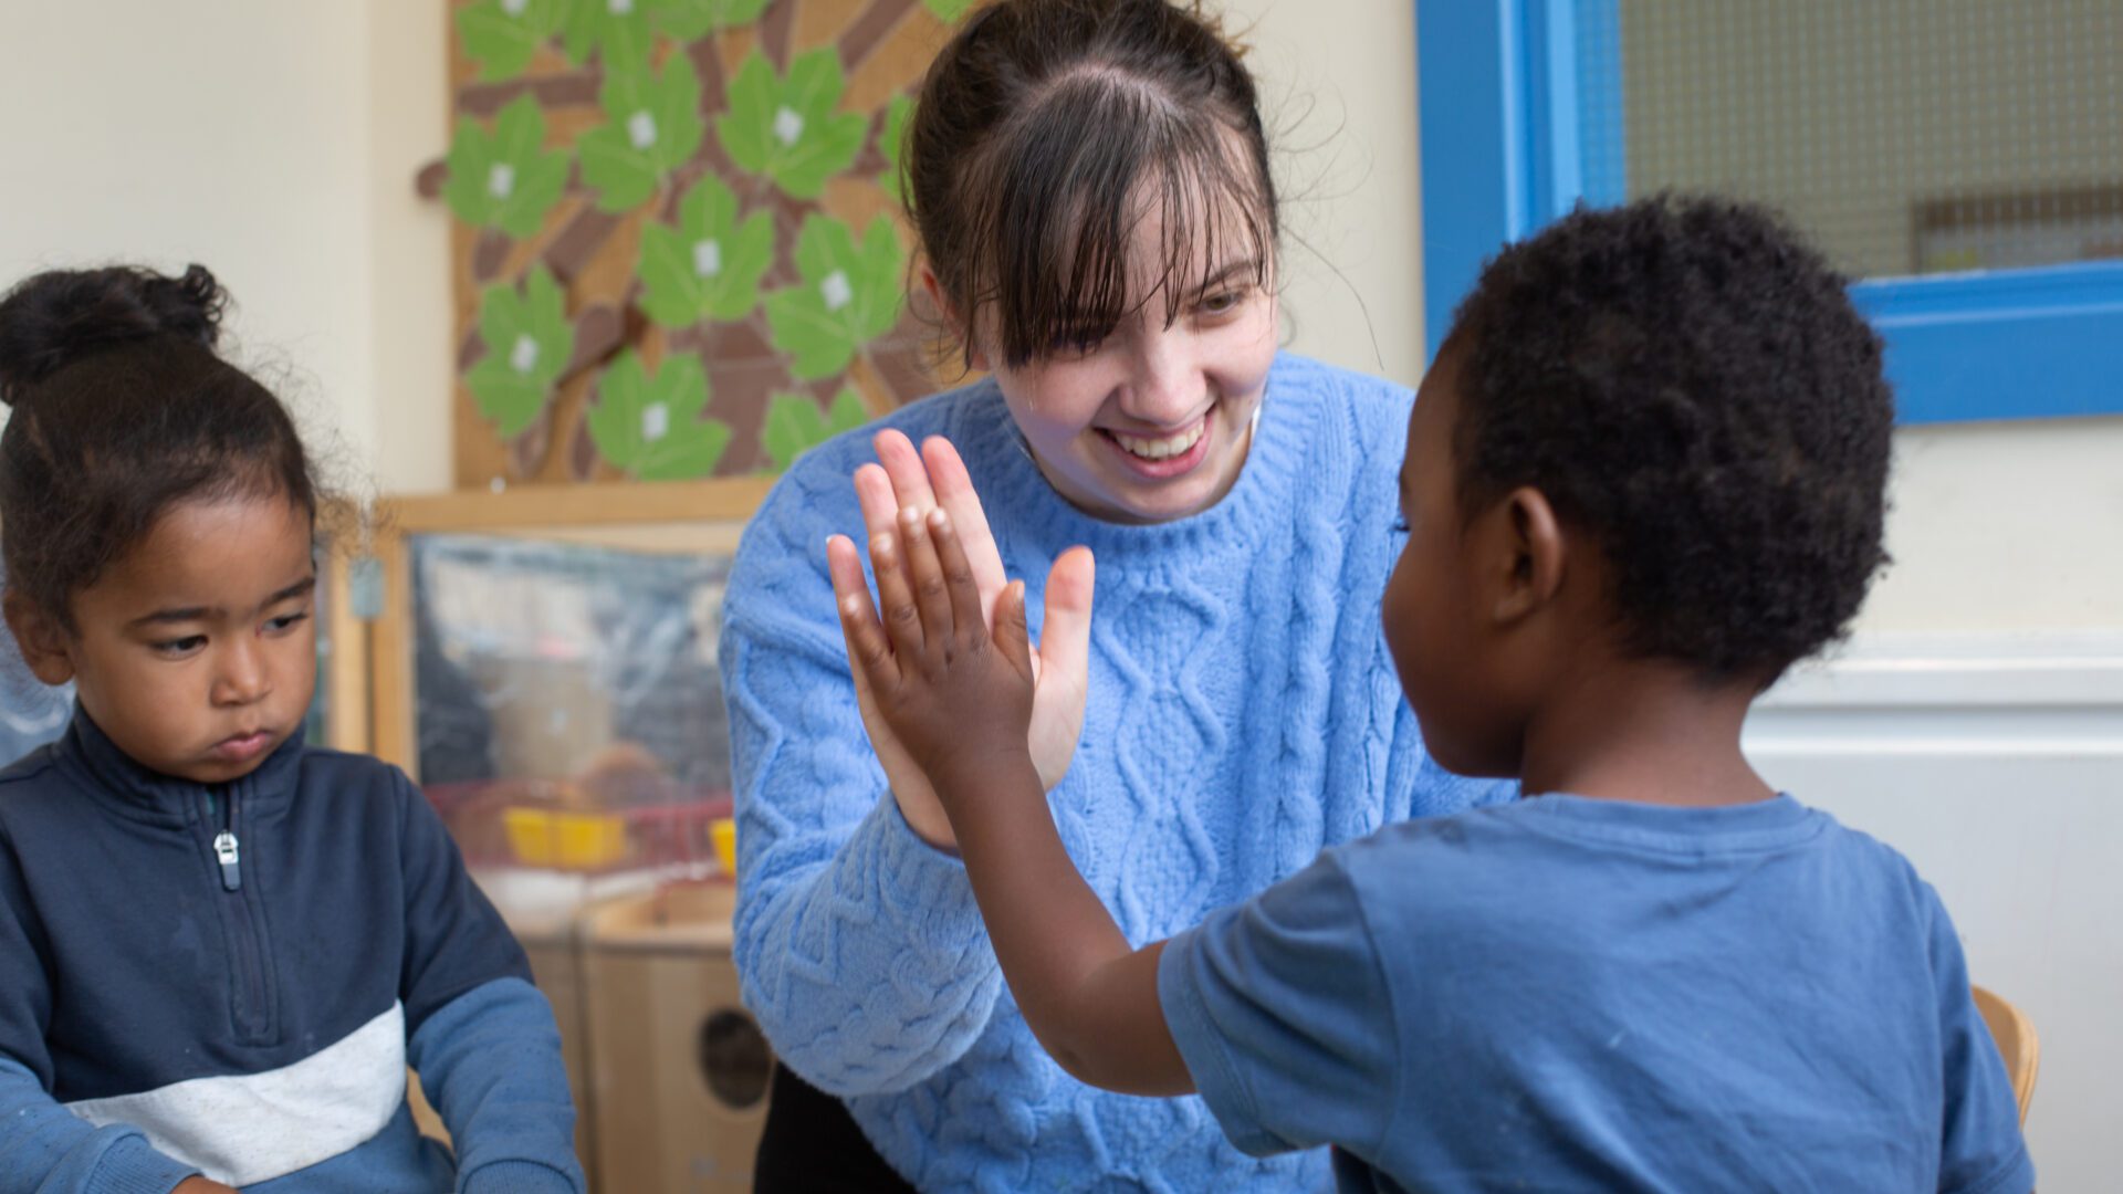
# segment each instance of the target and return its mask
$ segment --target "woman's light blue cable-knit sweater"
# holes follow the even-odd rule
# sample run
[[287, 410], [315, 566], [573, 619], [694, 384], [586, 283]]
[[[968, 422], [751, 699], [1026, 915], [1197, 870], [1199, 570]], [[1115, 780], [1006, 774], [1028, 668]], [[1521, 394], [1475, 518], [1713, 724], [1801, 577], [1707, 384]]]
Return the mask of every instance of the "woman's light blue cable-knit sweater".
[[[1282, 355], [1246, 467], [1214, 508], [1095, 521], [1023, 448], [991, 380], [885, 419], [949, 438], [1034, 635], [1055, 555], [1098, 555], [1083, 741], [1051, 803], [1132, 941], [1199, 922], [1388, 820], [1512, 795], [1422, 752], [1378, 601], [1399, 550], [1405, 389]], [[841, 436], [773, 489], [724, 605], [739, 818], [737, 967], [781, 1058], [847, 1098], [924, 1190], [1325, 1188], [1323, 1154], [1257, 1160], [1197, 1098], [1068, 1077], [1002, 984], [964, 865], [907, 826], [870, 752], [826, 576], [862, 535]]]

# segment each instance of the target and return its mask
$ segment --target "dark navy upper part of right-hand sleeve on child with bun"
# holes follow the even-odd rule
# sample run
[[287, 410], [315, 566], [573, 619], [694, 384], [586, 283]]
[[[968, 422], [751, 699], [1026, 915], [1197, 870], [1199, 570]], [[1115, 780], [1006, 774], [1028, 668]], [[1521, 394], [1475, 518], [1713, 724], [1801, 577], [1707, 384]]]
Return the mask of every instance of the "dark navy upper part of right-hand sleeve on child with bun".
[[399, 1001], [405, 1003], [405, 1033], [418, 1035], [429, 1016], [473, 988], [503, 977], [531, 982], [531, 962], [501, 914], [471, 882], [456, 841], [427, 797], [403, 771], [393, 767], [391, 778], [399, 801], [405, 897]]

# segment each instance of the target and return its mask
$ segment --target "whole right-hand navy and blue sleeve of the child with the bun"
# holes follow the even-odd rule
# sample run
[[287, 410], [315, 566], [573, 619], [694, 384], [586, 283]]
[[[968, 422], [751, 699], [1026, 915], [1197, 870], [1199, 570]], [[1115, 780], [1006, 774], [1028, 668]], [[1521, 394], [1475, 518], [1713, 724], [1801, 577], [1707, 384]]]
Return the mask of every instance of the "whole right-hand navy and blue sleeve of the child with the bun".
[[405, 1060], [450, 1130], [456, 1188], [582, 1194], [560, 1030], [501, 914], [403, 778]]

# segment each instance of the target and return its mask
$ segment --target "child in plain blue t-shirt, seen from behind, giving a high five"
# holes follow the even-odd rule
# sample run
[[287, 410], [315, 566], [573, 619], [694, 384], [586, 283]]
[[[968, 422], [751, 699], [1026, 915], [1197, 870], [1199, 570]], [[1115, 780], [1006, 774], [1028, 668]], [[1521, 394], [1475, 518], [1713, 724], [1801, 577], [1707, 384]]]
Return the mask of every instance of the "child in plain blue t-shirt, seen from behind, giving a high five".
[[1505, 249], [1408, 425], [1382, 603], [1452, 771], [1526, 799], [1393, 824], [1142, 950], [1025, 756], [1023, 591], [943, 512], [830, 559], [849, 656], [934, 780], [1028, 1024], [1093, 1086], [1199, 1090], [1344, 1190], [2025, 1194], [1936, 892], [1768, 788], [1754, 699], [1845, 633], [1892, 395], [1845, 283], [1720, 200]]

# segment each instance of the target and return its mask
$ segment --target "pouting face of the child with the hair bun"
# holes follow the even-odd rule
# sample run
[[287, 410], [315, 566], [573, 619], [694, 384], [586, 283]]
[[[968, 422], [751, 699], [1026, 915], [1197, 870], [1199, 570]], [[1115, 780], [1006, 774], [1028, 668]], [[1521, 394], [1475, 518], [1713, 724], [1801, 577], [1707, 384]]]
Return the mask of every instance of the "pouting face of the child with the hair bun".
[[223, 784], [301, 731], [314, 597], [308, 510], [280, 495], [180, 501], [74, 595], [64, 665], [136, 763]]

